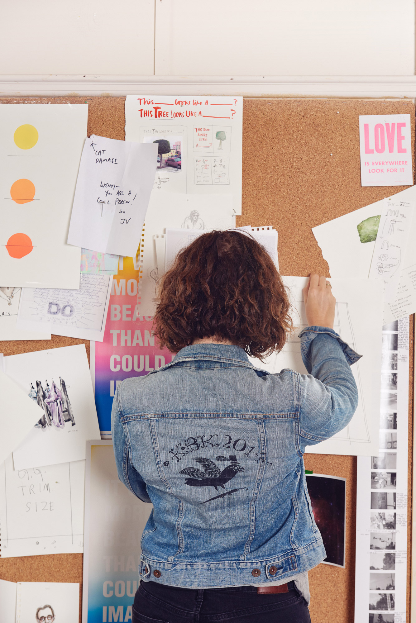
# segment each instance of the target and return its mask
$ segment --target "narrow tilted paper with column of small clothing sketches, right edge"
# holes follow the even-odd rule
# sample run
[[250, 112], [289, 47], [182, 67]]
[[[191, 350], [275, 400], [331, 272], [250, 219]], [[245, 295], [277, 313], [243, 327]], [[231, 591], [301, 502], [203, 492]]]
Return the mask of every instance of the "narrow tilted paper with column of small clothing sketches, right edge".
[[384, 301], [387, 303], [395, 302], [414, 209], [414, 201], [384, 199], [369, 278], [383, 283]]

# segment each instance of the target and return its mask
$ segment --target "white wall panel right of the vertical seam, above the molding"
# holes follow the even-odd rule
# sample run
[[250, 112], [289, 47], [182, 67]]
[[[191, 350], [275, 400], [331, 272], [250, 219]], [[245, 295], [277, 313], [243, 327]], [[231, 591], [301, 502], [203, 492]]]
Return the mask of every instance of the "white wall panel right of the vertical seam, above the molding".
[[158, 0], [160, 75], [412, 75], [414, 0]]

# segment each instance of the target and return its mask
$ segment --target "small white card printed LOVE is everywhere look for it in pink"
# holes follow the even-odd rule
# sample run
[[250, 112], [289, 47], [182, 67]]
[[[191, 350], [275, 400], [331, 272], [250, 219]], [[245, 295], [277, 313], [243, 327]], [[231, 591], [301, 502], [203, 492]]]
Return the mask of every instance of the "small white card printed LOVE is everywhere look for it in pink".
[[361, 186], [413, 184], [410, 115], [360, 115]]

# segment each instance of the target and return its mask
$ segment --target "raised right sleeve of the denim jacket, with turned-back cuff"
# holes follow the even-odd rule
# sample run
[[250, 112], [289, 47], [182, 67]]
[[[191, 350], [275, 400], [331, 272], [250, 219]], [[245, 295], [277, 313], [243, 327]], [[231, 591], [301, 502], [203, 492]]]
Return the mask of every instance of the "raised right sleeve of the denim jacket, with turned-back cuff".
[[300, 374], [301, 445], [314, 445], [343, 430], [358, 404], [350, 366], [361, 358], [333, 329], [308, 326], [300, 333], [308, 375]]

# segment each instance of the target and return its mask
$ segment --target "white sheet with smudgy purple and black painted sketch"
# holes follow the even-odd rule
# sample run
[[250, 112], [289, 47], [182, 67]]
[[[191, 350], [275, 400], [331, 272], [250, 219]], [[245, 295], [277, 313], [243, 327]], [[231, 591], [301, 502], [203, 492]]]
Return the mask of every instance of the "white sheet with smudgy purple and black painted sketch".
[[14, 449], [14, 468], [85, 459], [86, 440], [100, 435], [85, 346], [10, 355], [4, 372], [45, 411]]

